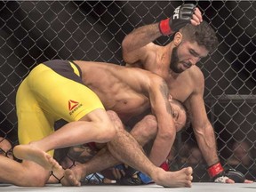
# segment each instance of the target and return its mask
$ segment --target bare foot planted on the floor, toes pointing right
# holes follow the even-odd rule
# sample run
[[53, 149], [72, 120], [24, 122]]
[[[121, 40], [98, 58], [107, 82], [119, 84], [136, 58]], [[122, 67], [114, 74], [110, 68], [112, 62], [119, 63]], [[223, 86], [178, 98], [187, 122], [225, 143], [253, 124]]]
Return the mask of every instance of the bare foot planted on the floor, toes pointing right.
[[167, 188], [191, 188], [192, 173], [191, 167], [183, 168], [177, 172], [161, 172], [156, 175], [155, 182]]

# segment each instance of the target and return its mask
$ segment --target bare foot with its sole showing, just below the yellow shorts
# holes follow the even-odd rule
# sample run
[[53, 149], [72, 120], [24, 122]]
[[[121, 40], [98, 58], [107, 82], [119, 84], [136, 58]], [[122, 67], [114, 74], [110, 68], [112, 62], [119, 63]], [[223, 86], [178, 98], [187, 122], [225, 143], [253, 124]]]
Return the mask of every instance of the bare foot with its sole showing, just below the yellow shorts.
[[40, 164], [46, 170], [58, 171], [62, 169], [60, 164], [52, 156], [29, 144], [18, 145], [13, 148], [13, 155], [21, 160], [33, 161], [36, 164]]

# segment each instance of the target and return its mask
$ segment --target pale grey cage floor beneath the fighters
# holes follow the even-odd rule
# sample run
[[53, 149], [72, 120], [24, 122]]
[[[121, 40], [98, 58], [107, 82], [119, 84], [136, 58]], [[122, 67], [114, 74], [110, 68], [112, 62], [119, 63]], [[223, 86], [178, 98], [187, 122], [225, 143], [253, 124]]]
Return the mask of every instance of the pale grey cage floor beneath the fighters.
[[82, 186], [82, 187], [62, 187], [60, 185], [47, 185], [44, 188], [25, 188], [25, 187], [17, 187], [13, 185], [7, 185], [7, 184], [2, 184], [0, 185], [0, 191], [61, 191], [61, 192], [113, 192], [113, 191], [118, 191], [118, 192], [165, 192], [165, 191], [172, 191], [172, 192], [220, 192], [220, 191], [225, 191], [225, 192], [249, 192], [249, 191], [255, 191], [256, 190], [256, 183], [251, 183], [251, 184], [241, 184], [241, 183], [236, 183], [236, 184], [220, 184], [220, 183], [193, 183], [192, 188], [163, 188], [161, 186], [157, 186], [156, 184], [150, 184], [150, 185], [145, 185], [145, 186]]

